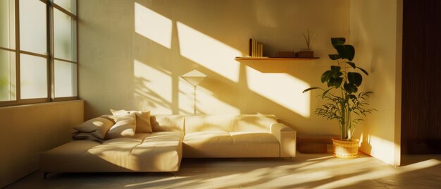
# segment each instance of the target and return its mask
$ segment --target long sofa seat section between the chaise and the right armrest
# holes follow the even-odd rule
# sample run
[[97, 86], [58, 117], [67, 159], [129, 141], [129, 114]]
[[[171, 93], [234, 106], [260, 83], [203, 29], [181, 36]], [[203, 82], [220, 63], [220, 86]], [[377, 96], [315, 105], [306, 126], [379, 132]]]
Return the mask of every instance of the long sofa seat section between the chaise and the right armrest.
[[204, 131], [185, 133], [183, 157], [279, 157], [280, 145], [271, 133]]

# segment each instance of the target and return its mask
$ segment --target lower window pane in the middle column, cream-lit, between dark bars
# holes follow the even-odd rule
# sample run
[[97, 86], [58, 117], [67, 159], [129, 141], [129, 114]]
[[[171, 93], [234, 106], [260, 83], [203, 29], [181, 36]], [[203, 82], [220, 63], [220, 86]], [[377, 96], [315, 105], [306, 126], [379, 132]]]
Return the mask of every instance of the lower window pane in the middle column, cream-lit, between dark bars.
[[20, 54], [21, 99], [46, 98], [47, 59]]

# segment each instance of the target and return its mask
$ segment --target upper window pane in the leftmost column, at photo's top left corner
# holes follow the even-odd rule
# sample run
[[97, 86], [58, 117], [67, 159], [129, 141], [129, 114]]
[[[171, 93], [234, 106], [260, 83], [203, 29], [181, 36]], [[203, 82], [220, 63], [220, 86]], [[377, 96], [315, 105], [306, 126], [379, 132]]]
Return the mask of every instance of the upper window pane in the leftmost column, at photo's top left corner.
[[15, 49], [15, 1], [0, 1], [0, 47]]

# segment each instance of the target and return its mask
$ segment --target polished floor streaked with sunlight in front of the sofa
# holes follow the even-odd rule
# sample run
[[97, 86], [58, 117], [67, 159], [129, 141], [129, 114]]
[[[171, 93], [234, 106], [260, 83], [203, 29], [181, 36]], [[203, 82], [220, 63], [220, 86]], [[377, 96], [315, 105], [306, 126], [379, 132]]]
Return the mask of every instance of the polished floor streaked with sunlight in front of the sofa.
[[7, 188], [441, 188], [441, 155], [408, 155], [394, 167], [361, 154], [290, 159], [182, 159], [176, 173], [37, 171]]

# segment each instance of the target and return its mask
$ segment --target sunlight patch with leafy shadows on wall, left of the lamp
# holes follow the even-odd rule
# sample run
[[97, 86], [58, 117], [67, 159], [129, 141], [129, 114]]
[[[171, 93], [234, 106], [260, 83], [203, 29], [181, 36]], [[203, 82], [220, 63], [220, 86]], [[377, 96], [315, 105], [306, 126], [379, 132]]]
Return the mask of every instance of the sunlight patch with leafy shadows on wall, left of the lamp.
[[141, 61], [133, 61], [135, 99], [139, 108], [151, 114], [172, 114], [172, 78]]

